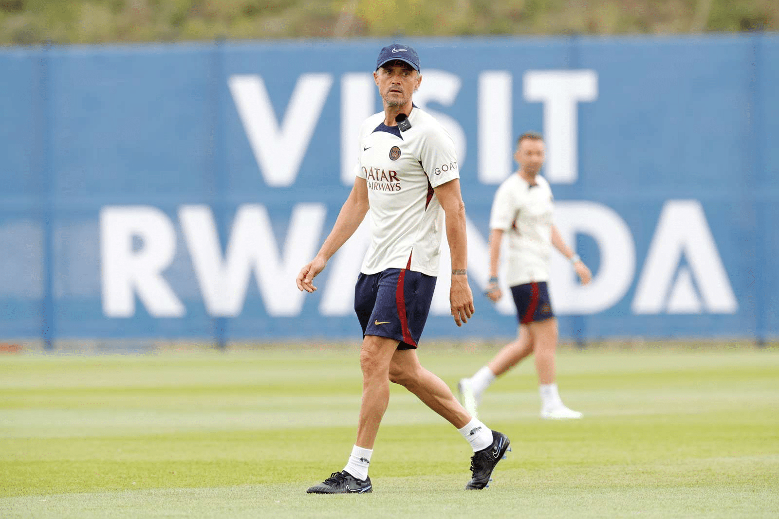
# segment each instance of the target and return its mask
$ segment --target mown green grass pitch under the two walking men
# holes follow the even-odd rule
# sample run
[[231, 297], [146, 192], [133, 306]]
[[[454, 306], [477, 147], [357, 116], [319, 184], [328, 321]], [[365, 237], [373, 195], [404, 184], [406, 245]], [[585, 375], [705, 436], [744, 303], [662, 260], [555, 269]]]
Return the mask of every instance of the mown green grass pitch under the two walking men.
[[[454, 387], [494, 348], [420, 350]], [[470, 448], [394, 387], [374, 493], [315, 496], [354, 443], [355, 348], [0, 357], [0, 517], [779, 517], [779, 349], [562, 349], [485, 395], [512, 440], [489, 489]]]

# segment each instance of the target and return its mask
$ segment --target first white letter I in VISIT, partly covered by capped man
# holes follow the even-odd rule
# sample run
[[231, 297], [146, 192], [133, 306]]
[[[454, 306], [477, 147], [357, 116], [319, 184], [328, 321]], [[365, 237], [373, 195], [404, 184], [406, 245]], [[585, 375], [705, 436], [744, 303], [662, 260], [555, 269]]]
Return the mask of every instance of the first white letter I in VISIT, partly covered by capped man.
[[354, 184], [362, 121], [376, 113], [376, 86], [371, 74], [350, 72], [341, 76], [341, 182]]

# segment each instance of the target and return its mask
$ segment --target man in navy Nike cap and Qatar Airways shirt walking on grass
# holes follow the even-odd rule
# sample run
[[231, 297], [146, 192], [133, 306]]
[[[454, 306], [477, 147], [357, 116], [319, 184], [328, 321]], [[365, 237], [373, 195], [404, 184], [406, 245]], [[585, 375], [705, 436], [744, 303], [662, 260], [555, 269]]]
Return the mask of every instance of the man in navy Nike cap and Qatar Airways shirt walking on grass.
[[509, 450], [509, 438], [469, 415], [443, 380], [420, 365], [416, 352], [439, 274], [443, 230], [452, 256], [454, 321], [461, 326], [474, 314], [454, 143], [435, 118], [412, 102], [422, 80], [414, 49], [382, 48], [373, 77], [384, 110], [362, 124], [351, 194], [319, 253], [297, 278], [298, 289], [314, 292], [314, 277], [371, 212], [371, 245], [354, 288], [363, 334], [357, 439], [344, 469], [308, 493], [372, 492], [368, 466], [390, 382], [417, 395], [471, 444], [472, 477], [466, 489], [483, 489]]

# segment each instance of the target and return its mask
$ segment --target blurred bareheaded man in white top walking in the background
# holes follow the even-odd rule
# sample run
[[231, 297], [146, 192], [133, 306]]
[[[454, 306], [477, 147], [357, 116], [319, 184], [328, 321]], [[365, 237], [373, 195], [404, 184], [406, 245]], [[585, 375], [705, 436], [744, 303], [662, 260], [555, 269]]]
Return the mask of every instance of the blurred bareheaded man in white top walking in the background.
[[473, 377], [460, 380], [460, 401], [471, 416], [477, 416], [481, 395], [503, 373], [520, 360], [535, 354], [541, 393], [541, 417], [576, 419], [582, 413], [568, 409], [555, 383], [557, 320], [552, 313], [547, 282], [552, 245], [573, 264], [585, 285], [592, 275], [587, 265], [574, 254], [560, 236], [552, 220], [552, 190], [539, 174], [544, 164], [544, 139], [538, 133], [522, 135], [516, 144], [514, 159], [520, 170], [498, 188], [490, 215], [490, 281], [485, 290], [496, 303], [502, 296], [498, 286], [498, 263], [503, 235], [508, 235], [506, 281], [511, 287], [516, 317], [516, 340], [505, 345]]

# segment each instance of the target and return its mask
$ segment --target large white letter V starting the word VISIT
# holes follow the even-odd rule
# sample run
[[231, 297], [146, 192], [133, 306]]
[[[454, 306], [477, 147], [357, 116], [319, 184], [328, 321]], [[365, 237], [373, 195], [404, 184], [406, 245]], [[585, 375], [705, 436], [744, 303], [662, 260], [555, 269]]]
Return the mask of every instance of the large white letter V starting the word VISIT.
[[330, 74], [301, 75], [279, 127], [262, 77], [231, 75], [228, 79], [257, 165], [269, 186], [294, 184], [332, 83]]

